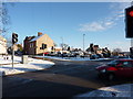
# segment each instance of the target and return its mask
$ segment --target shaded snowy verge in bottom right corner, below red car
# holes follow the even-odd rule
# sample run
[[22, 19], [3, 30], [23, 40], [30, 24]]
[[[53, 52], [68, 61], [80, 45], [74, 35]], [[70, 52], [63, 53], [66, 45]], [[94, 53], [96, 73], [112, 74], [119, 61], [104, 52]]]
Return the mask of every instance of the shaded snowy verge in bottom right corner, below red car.
[[102, 87], [98, 90], [78, 95], [75, 97], [133, 97], [133, 84]]

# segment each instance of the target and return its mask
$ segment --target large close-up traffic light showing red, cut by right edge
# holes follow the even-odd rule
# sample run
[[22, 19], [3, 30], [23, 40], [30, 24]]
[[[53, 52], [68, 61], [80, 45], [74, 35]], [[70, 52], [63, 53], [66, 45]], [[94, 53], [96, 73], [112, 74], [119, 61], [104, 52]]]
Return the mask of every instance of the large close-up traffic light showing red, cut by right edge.
[[133, 37], [133, 6], [125, 9], [125, 36]]

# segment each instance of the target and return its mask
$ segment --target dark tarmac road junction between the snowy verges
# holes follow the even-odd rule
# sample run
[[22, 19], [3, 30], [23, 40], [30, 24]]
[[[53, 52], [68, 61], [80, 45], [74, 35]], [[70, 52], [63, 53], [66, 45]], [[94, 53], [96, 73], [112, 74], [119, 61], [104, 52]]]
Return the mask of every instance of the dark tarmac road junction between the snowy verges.
[[101, 87], [131, 84], [131, 79], [109, 81], [96, 76], [95, 67], [102, 62], [52, 61], [49, 69], [3, 77], [4, 97], [74, 97]]

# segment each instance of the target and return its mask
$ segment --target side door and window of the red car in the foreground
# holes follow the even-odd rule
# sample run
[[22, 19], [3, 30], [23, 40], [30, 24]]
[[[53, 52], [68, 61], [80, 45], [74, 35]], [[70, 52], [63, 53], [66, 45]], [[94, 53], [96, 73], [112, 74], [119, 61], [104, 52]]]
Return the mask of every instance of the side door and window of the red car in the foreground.
[[117, 66], [117, 76], [121, 77], [131, 77], [132, 76], [132, 64], [130, 61], [121, 63], [120, 66]]

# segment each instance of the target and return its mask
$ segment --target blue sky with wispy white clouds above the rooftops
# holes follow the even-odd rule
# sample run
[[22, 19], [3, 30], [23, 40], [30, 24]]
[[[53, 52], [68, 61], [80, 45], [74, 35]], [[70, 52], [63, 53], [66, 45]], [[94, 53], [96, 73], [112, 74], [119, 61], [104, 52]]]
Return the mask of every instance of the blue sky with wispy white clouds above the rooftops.
[[90, 43], [100, 47], [129, 51], [125, 38], [124, 8], [129, 3], [116, 2], [14, 2], [8, 4], [11, 24], [9, 34], [19, 34], [19, 43], [25, 36], [47, 33], [60, 46], [63, 42], [85, 48]]

